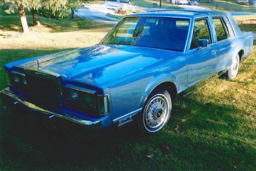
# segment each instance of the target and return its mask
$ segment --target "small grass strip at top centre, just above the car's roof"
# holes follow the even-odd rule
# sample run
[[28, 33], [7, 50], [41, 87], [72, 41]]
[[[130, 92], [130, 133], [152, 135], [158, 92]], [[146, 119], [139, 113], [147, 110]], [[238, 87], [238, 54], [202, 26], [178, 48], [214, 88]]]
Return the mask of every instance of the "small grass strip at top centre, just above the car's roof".
[[[159, 0], [130, 0], [131, 4], [134, 6], [141, 6], [146, 8], [153, 8], [152, 2], [157, 2], [157, 7], [160, 8]], [[183, 9], [182, 7], [176, 6], [175, 4], [168, 3], [166, 0], [162, 0], [162, 8], [166, 9]], [[160, 8], [161, 9], [161, 8]]]

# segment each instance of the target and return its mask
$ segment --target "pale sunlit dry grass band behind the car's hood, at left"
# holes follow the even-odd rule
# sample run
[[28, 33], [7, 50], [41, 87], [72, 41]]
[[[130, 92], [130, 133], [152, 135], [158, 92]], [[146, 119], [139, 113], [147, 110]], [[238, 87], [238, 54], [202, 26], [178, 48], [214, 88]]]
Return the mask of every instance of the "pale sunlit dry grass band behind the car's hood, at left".
[[100, 42], [106, 35], [105, 30], [84, 30], [75, 32], [29, 32], [9, 33], [9, 36], [0, 36], [0, 49], [39, 49], [51, 48], [81, 48], [92, 46]]

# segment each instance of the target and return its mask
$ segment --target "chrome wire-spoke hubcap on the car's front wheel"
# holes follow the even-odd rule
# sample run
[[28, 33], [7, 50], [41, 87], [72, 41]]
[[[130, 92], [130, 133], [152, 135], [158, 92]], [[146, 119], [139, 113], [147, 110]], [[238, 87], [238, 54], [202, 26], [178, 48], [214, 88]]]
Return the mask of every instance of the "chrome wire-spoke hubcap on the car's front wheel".
[[164, 125], [168, 117], [169, 105], [164, 95], [155, 95], [144, 111], [144, 124], [148, 131], [155, 132]]

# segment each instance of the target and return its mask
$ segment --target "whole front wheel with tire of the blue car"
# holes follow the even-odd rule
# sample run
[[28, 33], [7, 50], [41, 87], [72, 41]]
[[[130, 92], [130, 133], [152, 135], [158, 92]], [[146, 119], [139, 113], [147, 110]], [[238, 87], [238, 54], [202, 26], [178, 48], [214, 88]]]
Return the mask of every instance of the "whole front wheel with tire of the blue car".
[[162, 129], [170, 119], [172, 101], [165, 89], [156, 90], [148, 99], [143, 107], [143, 128], [154, 133]]

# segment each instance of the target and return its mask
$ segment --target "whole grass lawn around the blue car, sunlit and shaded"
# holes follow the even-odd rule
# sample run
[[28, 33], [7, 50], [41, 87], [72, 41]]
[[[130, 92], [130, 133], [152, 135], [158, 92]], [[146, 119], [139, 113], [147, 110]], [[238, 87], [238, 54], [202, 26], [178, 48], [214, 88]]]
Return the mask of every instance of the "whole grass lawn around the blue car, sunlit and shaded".
[[[5, 63], [96, 44], [111, 26], [53, 19], [21, 34], [19, 17], [0, 16], [0, 89], [7, 87]], [[3, 109], [0, 101], [0, 170], [256, 170], [255, 57], [256, 41], [236, 79], [216, 79], [178, 100], [167, 127], [151, 136], [139, 136], [132, 126], [88, 133], [55, 124], [55, 117], [39, 122], [34, 114]]]

